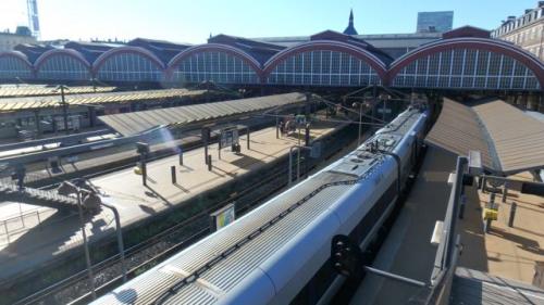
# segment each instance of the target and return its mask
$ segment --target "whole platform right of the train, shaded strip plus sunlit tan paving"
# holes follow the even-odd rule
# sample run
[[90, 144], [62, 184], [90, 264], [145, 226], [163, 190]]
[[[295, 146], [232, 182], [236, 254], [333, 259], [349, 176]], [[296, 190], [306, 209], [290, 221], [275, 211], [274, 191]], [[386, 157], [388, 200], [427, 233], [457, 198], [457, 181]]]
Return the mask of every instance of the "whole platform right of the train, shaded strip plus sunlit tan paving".
[[[372, 267], [429, 283], [436, 255], [431, 237], [443, 220], [456, 155], [430, 147], [405, 206]], [[509, 178], [532, 181], [529, 173]], [[497, 193], [498, 220], [484, 233], [482, 211], [490, 201], [475, 186], [465, 187], [467, 206], [458, 221], [462, 244], [452, 289], [453, 304], [544, 304], [544, 291], [532, 285], [535, 265], [544, 262], [544, 199], [509, 190], [506, 203]], [[508, 227], [511, 202], [517, 203]], [[540, 263], [542, 265], [542, 263]], [[406, 304], [423, 300], [424, 289], [368, 274], [351, 304]]]

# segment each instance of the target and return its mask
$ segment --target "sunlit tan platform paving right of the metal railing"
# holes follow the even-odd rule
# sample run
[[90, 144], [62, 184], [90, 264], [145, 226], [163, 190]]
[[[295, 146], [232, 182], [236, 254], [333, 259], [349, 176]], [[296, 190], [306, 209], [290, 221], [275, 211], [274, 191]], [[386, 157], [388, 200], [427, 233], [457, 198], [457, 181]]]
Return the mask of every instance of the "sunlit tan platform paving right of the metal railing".
[[[532, 181], [529, 173], [509, 178]], [[487, 233], [483, 231], [482, 208], [490, 193], [470, 188], [467, 198], [466, 217], [459, 223], [463, 244], [459, 266], [531, 284], [535, 264], [544, 260], [544, 198], [508, 190], [503, 203], [502, 194], [496, 194], [498, 219], [492, 221]], [[512, 202], [517, 211], [514, 226], [508, 227]]]

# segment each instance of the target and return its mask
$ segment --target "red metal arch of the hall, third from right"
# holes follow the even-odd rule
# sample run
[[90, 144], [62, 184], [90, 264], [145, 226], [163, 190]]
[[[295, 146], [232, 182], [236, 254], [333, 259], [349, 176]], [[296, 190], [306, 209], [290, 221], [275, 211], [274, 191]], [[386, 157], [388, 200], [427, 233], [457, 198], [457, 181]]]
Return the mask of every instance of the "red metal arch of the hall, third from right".
[[236, 56], [244, 61], [246, 64], [248, 64], [257, 74], [259, 77], [262, 73], [262, 69], [260, 67], [260, 63], [251, 55], [248, 53], [244, 52], [243, 50], [239, 50], [237, 48], [226, 46], [226, 45], [221, 45], [221, 43], [207, 43], [207, 45], [200, 45], [200, 46], [195, 46], [187, 48], [180, 52], [177, 55], [175, 55], [170, 63], [168, 64], [168, 74], [169, 76], [172, 76], [174, 73], [175, 68], [180, 65], [180, 63], [191, 56], [193, 54], [200, 53], [200, 52], [224, 52], [227, 54], [231, 54], [233, 56]]

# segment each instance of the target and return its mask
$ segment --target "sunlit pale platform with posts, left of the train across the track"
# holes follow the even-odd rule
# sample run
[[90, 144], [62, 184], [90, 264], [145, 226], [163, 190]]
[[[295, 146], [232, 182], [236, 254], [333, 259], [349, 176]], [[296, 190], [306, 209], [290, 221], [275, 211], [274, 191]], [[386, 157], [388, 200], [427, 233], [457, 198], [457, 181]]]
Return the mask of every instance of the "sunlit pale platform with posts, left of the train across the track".
[[[339, 124], [318, 123], [312, 125], [311, 137], [318, 139], [337, 129]], [[275, 127], [251, 132], [250, 150], [246, 148], [246, 137], [240, 136], [242, 153], [235, 155], [230, 149], [222, 151], [218, 160], [218, 144], [210, 145], [213, 168], [208, 170], [205, 164], [203, 148], [184, 154], [184, 165], [180, 166], [178, 156], [160, 158], [147, 165], [147, 187], [143, 186], [141, 176], [133, 168], [119, 170], [91, 179], [99, 190], [103, 202], [114, 205], [122, 226], [128, 226], [150, 217], [171, 206], [183, 204], [186, 200], [198, 196], [236, 177], [285, 156], [290, 147], [298, 144], [295, 137], [276, 139]], [[177, 183], [171, 181], [171, 166], [176, 166]], [[287, 179], [287, 177], [286, 177]], [[10, 211], [4, 211], [9, 208]], [[16, 204], [0, 206], [0, 215], [15, 214]], [[23, 209], [28, 206], [23, 205]], [[44, 209], [42, 209], [44, 211]], [[50, 211], [50, 209], [45, 209]], [[0, 281], [42, 265], [64, 252], [82, 245], [82, 232], [77, 215], [46, 214], [41, 219], [26, 219], [24, 230], [11, 234], [8, 241], [0, 234]], [[108, 234], [113, 234], [115, 223], [108, 209], [87, 219], [86, 232], [90, 242]]]

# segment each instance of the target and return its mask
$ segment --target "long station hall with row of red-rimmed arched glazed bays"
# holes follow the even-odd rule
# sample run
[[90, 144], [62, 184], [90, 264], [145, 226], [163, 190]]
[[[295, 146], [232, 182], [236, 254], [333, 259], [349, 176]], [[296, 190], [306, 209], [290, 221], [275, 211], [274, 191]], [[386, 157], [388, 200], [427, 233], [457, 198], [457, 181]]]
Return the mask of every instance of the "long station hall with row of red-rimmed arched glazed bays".
[[[293, 40], [218, 35], [199, 46], [143, 38], [123, 45], [73, 41], [62, 48], [20, 45], [0, 52], [0, 79], [506, 91], [540, 91], [544, 84], [542, 61], [480, 28], [433, 34], [403, 54], [369, 38], [325, 30]], [[384, 37], [375, 45], [409, 38]]]

